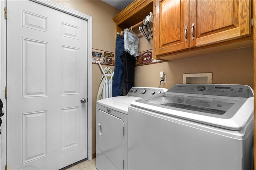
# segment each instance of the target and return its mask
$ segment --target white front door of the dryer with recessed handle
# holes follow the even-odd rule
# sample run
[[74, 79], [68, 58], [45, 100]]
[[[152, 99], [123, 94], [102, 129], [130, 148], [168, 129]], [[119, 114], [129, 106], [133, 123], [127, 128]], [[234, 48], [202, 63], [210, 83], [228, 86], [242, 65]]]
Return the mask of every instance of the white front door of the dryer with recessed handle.
[[98, 110], [96, 120], [96, 168], [124, 169], [124, 122]]

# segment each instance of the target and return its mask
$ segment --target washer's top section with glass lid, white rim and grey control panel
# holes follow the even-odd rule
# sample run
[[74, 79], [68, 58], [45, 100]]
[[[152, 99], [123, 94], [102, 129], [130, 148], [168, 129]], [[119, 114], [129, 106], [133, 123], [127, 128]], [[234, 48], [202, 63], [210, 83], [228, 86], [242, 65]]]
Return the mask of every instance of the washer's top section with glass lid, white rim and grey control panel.
[[241, 130], [252, 119], [253, 91], [246, 85], [174, 85], [156, 97], [131, 105], [230, 130]]

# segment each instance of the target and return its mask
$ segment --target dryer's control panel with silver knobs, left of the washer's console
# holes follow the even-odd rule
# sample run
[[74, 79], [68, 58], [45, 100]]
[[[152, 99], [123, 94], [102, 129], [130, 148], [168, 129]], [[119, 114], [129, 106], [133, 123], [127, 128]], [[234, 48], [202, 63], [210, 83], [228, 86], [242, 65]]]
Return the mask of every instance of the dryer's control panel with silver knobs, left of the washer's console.
[[158, 87], [132, 87], [127, 96], [150, 97], [166, 92], [168, 89]]

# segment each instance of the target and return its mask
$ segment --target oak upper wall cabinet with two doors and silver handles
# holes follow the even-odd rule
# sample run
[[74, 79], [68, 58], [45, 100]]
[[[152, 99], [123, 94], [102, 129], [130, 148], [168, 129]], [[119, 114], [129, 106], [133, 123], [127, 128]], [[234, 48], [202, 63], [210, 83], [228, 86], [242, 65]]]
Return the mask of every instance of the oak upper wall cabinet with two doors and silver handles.
[[250, 0], [154, 1], [154, 57], [170, 60], [251, 36], [251, 8]]

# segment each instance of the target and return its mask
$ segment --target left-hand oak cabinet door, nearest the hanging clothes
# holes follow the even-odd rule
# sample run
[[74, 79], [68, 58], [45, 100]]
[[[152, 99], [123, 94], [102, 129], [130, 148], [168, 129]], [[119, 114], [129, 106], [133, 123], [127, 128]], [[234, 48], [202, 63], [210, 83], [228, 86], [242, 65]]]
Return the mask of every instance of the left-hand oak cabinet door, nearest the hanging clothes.
[[190, 47], [188, 20], [188, 0], [155, 1], [154, 55], [156, 58], [161, 54]]

